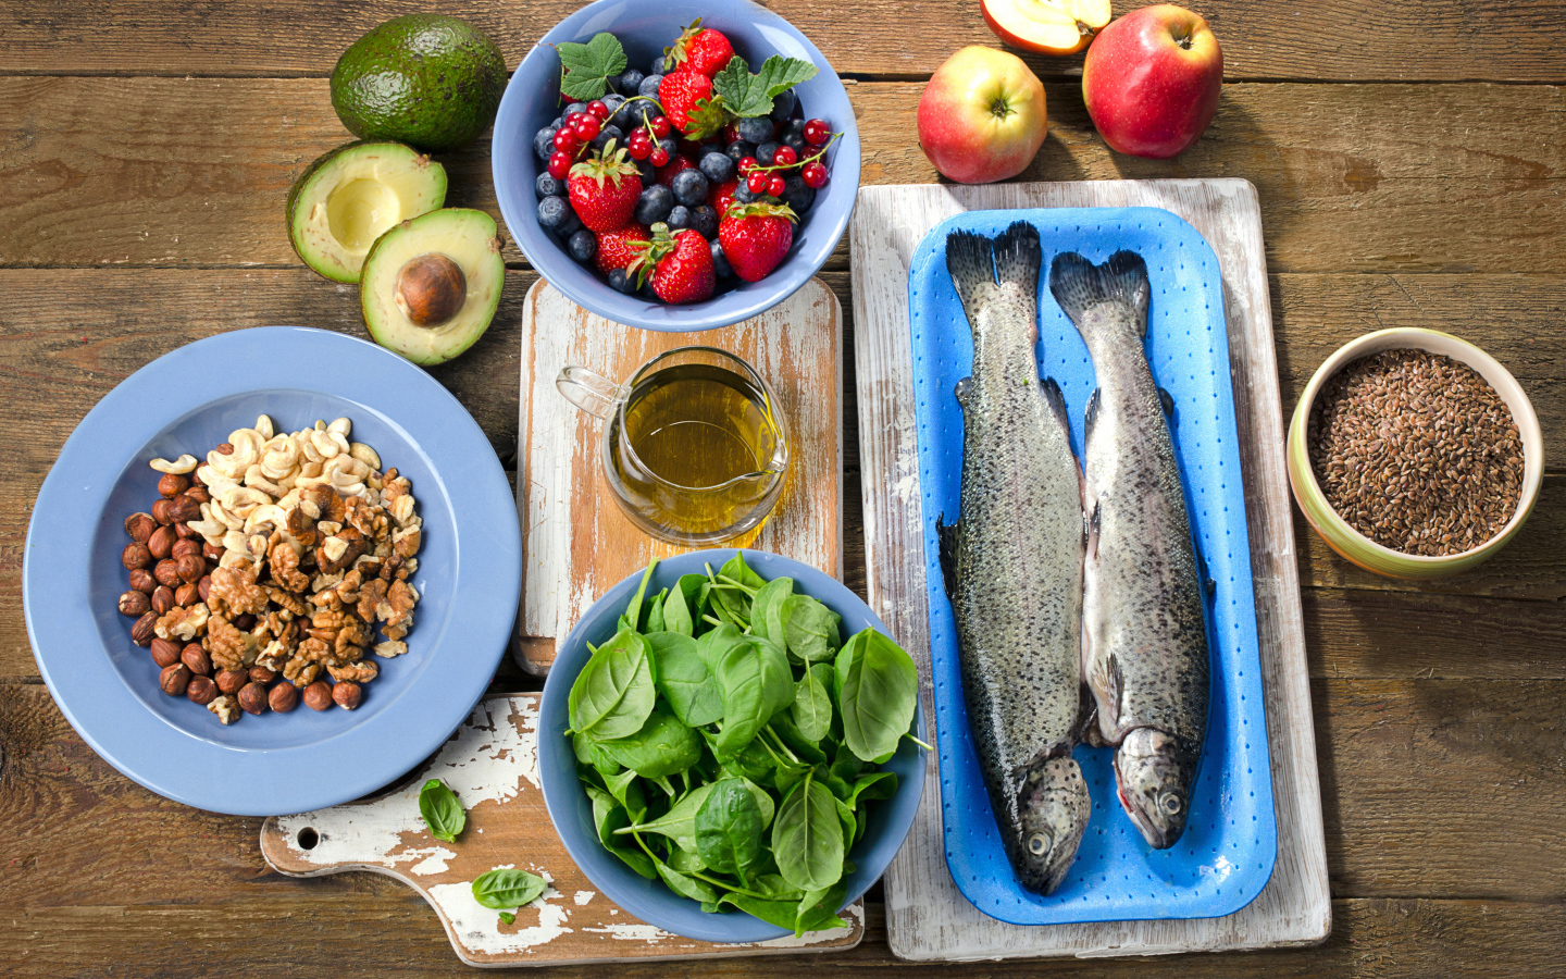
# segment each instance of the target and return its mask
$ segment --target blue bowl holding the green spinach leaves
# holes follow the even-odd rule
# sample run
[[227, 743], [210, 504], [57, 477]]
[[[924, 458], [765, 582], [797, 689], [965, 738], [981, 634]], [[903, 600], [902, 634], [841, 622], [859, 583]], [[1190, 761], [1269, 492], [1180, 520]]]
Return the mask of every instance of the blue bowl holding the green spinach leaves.
[[[733, 556], [733, 548], [716, 548], [669, 558], [658, 564], [653, 580], [647, 586], [647, 594], [673, 587], [680, 575], [698, 573], [706, 564], [714, 569], [720, 567]], [[860, 601], [858, 595], [836, 578], [808, 564], [749, 550], [745, 551], [745, 564], [769, 581], [781, 576], [792, 578], [796, 592], [805, 592], [843, 616], [844, 638], [866, 627], [886, 633], [886, 627], [868, 605]], [[615, 620], [625, 611], [626, 601], [636, 594], [640, 581], [642, 573], [637, 572], [595, 601], [561, 644], [554, 666], [550, 667], [550, 678], [543, 685], [543, 702], [539, 706], [539, 775], [550, 819], [554, 822], [561, 841], [565, 843], [565, 851], [587, 874], [587, 879], [598, 885], [598, 890], [611, 901], [648, 924], [700, 941], [766, 941], [789, 935], [792, 932], [745, 913], [703, 913], [702, 905], [695, 901], [670, 891], [662, 880], [640, 877], [598, 843], [592, 802], [576, 779], [576, 755], [565, 736], [565, 728], [570, 727], [567, 699], [576, 674], [590, 656], [587, 644], [598, 645], [614, 634]], [[922, 706], [915, 714], [913, 727], [921, 738], [927, 738]], [[849, 858], [858, 869], [849, 874], [849, 896], [844, 907], [860, 899], [880, 879], [908, 835], [913, 815], [919, 808], [919, 794], [924, 791], [924, 749], [907, 738], [886, 763], [889, 771], [897, 772], [897, 793], [891, 799], [874, 804], [864, 836], [849, 852]]]

